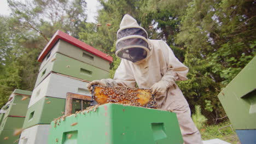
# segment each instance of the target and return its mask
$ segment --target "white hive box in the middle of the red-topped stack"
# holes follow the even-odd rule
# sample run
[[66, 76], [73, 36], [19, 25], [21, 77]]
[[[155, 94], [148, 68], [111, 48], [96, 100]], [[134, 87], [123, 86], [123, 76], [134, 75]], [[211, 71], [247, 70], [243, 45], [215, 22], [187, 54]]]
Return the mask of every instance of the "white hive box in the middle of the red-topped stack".
[[50, 73], [34, 88], [28, 107], [45, 96], [66, 99], [68, 92], [91, 96], [90, 91], [87, 89], [87, 84], [88, 82]]

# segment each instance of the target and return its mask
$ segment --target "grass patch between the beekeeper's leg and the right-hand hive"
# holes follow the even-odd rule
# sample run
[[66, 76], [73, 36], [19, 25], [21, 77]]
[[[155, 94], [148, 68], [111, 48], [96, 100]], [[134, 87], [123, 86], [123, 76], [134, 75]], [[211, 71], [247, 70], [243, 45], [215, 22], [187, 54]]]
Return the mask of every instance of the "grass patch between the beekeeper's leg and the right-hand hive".
[[236, 132], [232, 129], [230, 122], [216, 125], [205, 125], [200, 129], [203, 140], [220, 139], [232, 144], [240, 144]]

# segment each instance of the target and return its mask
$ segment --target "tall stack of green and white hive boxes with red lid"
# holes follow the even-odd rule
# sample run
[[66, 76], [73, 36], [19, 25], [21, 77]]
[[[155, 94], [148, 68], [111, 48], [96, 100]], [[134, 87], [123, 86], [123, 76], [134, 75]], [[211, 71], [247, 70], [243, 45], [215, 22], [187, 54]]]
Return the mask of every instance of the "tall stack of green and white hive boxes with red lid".
[[[112, 57], [57, 31], [38, 61], [42, 64], [28, 105], [22, 144], [46, 143], [50, 122], [65, 112], [67, 93], [91, 95], [87, 83], [109, 77]], [[73, 112], [88, 106], [88, 101], [74, 99]]]

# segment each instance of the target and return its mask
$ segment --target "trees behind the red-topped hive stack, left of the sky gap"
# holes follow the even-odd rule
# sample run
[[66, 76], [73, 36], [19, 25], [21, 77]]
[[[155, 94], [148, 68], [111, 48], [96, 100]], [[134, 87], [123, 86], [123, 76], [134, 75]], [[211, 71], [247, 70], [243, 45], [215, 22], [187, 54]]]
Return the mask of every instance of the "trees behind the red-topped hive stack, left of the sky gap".
[[40, 65], [37, 57], [53, 34], [60, 29], [78, 38], [80, 23], [86, 20], [83, 0], [8, 3], [11, 16], [0, 17], [0, 107], [15, 88], [33, 90]]

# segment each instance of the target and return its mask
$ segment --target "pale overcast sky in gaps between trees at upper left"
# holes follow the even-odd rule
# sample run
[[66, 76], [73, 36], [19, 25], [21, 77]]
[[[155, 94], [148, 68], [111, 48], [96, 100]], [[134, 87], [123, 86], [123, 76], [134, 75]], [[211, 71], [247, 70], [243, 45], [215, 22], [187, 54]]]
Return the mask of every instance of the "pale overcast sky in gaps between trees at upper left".
[[[18, 0], [16, 0], [18, 1]], [[19, 1], [26, 1], [26, 0], [19, 0]], [[94, 19], [97, 16], [97, 8], [100, 8], [100, 3], [97, 0], [85, 0], [87, 2], [88, 7], [88, 17], [87, 22], [96, 22]], [[1, 15], [9, 15], [10, 9], [8, 7], [7, 0], [0, 0], [0, 14]]]

